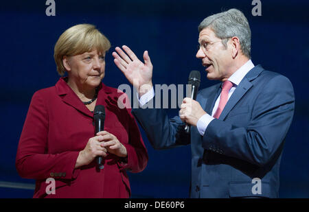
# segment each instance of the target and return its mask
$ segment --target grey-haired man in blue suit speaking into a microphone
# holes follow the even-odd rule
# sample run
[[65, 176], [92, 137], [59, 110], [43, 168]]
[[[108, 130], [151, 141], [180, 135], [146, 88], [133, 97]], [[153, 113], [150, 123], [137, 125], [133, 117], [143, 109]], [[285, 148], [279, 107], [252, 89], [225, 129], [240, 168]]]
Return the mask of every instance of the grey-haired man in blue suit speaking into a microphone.
[[[207, 17], [198, 27], [199, 48], [209, 80], [221, 82], [185, 98], [179, 117], [162, 109], [133, 110], [156, 149], [191, 144], [190, 197], [277, 198], [279, 164], [294, 113], [288, 78], [251, 61], [251, 30], [239, 10]], [[115, 64], [139, 91], [140, 104], [152, 101], [152, 64], [123, 46], [113, 52]], [[191, 127], [190, 135], [183, 130]]]

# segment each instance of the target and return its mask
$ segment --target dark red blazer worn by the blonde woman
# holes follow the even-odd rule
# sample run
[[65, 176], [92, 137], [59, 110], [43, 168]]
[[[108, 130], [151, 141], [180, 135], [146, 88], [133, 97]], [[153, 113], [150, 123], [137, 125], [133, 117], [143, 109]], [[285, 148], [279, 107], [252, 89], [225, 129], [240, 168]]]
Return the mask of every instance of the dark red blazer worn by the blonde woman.
[[[96, 162], [74, 169], [78, 152], [95, 134], [93, 113], [60, 78], [56, 86], [34, 93], [25, 119], [16, 155], [16, 169], [23, 178], [36, 179], [34, 198], [129, 198], [126, 170], [141, 172], [148, 154], [130, 109], [117, 106], [124, 93], [100, 85], [96, 104], [105, 106], [104, 130], [126, 147], [128, 161], [115, 154], [104, 158], [104, 169]], [[119, 91], [121, 92], [121, 91]], [[124, 96], [122, 96], [124, 97]], [[122, 99], [121, 97], [121, 99]], [[56, 180], [56, 194], [45, 192]]]

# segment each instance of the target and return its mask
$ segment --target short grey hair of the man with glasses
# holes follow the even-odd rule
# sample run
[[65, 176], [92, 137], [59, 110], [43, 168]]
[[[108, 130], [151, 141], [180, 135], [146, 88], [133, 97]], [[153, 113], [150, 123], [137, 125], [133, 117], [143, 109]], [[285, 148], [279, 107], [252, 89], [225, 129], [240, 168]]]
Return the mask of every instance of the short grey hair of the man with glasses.
[[[207, 27], [220, 39], [238, 37], [242, 54], [251, 58], [251, 30], [248, 20], [240, 10], [231, 9], [208, 16], [198, 25], [198, 32]], [[227, 47], [227, 41], [222, 40], [225, 47]]]

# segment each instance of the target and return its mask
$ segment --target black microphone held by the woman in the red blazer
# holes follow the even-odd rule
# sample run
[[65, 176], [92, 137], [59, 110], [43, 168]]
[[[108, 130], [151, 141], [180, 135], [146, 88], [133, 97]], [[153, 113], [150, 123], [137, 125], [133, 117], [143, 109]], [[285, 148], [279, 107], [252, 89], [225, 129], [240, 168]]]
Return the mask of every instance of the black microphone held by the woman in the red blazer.
[[[104, 130], [104, 120], [105, 120], [105, 108], [103, 105], [95, 106], [95, 110], [93, 113], [93, 119], [95, 123], [95, 134]], [[103, 169], [104, 165], [102, 164], [103, 158], [102, 156], [97, 156], [97, 164], [99, 169]]]

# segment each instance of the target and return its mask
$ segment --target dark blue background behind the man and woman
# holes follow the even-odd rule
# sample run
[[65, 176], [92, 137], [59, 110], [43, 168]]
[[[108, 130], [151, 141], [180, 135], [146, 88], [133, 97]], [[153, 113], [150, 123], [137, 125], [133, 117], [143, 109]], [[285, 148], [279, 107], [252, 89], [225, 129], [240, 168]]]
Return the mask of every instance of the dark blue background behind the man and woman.
[[[34, 183], [16, 173], [16, 148], [32, 95], [54, 86], [59, 75], [54, 44], [72, 25], [92, 23], [111, 41], [103, 82], [118, 87], [126, 78], [113, 63], [116, 46], [128, 45], [142, 59], [148, 50], [157, 84], [185, 84], [191, 70], [202, 73], [195, 58], [198, 24], [206, 16], [238, 8], [251, 26], [254, 64], [286, 75], [295, 89], [295, 116], [286, 137], [280, 169], [281, 198], [309, 197], [309, 1], [262, 1], [262, 16], [253, 16], [251, 1], [90, 0], [57, 1], [56, 16], [46, 16], [45, 1], [0, 3], [0, 181]], [[178, 110], [168, 110], [171, 116]], [[148, 166], [130, 174], [133, 198], [187, 198], [190, 187], [190, 146], [153, 150], [144, 132]], [[31, 198], [33, 190], [0, 187], [0, 198]]]

